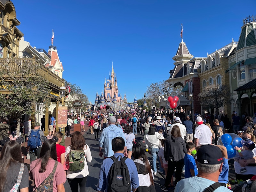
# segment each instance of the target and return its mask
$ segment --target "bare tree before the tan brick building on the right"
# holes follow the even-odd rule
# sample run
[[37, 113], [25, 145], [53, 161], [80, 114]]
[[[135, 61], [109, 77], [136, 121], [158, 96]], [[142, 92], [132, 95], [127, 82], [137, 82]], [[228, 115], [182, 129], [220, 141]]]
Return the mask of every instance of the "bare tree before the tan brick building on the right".
[[234, 101], [232, 99], [229, 87], [225, 85], [210, 85], [203, 88], [198, 94], [199, 101], [202, 106], [215, 108], [217, 111], [224, 105]]

